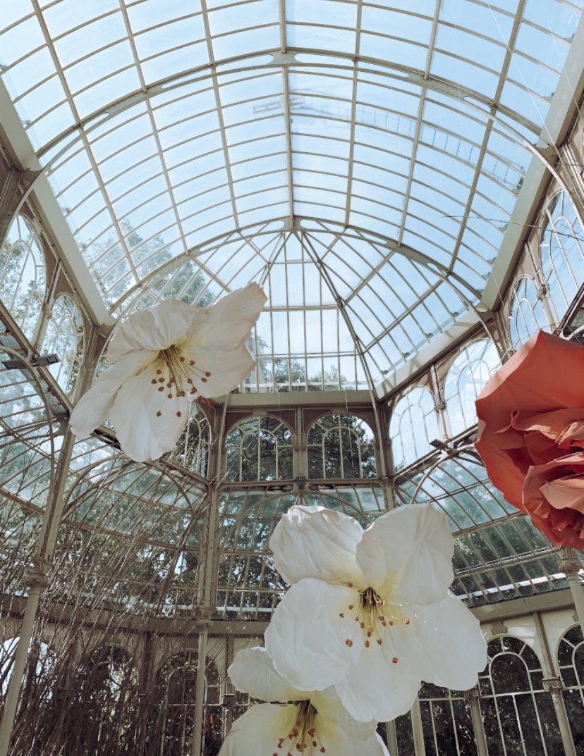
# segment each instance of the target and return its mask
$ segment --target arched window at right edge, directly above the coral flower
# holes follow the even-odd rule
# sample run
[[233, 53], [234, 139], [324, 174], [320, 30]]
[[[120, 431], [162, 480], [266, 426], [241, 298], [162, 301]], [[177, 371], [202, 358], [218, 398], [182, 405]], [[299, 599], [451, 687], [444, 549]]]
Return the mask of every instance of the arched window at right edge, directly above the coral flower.
[[559, 323], [584, 283], [584, 231], [564, 192], [545, 209], [540, 249], [542, 274]]

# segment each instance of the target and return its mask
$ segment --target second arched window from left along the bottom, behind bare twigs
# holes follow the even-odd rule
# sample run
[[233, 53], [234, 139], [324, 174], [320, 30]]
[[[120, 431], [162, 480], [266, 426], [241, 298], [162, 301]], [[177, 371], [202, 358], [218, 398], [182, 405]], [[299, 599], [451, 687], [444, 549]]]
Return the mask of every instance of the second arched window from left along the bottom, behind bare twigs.
[[80, 666], [67, 702], [67, 748], [87, 754], [132, 753], [139, 700], [132, 657], [116, 646], [95, 649]]

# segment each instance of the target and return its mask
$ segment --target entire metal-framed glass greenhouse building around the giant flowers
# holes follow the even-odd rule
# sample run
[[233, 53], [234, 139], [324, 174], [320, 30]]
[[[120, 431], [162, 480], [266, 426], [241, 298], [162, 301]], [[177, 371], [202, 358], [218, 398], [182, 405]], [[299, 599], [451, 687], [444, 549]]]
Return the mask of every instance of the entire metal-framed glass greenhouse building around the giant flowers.
[[[381, 723], [392, 756], [579, 754], [581, 555], [505, 501], [473, 443], [477, 394], [528, 336], [582, 341], [582, 10], [0, 3], [10, 756], [216, 756], [252, 703], [228, 665], [287, 590], [281, 516], [365, 527], [428, 502], [489, 663]], [[250, 281], [256, 367], [192, 405], [176, 448], [132, 462], [107, 421], [73, 437], [118, 321]]]

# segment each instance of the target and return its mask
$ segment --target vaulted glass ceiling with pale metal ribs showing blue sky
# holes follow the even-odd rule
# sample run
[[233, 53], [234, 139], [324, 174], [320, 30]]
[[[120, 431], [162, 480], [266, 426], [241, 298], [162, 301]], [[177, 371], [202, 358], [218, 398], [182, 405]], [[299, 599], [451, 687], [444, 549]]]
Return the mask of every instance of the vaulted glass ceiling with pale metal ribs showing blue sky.
[[4, 0], [0, 76], [112, 314], [260, 280], [259, 355], [366, 386], [480, 300], [581, 9]]

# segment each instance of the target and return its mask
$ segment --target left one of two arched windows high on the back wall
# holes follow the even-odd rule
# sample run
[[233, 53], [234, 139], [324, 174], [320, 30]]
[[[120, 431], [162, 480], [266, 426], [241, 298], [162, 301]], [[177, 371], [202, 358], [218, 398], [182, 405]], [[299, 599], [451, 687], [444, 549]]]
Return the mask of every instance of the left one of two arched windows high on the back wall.
[[228, 432], [227, 480], [292, 479], [292, 434], [277, 417], [246, 417]]

